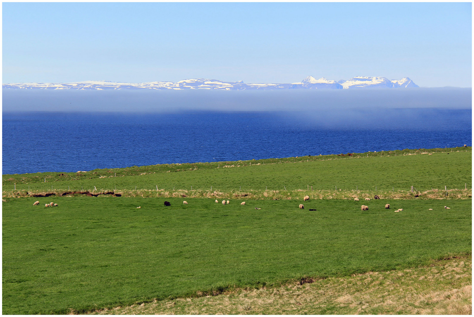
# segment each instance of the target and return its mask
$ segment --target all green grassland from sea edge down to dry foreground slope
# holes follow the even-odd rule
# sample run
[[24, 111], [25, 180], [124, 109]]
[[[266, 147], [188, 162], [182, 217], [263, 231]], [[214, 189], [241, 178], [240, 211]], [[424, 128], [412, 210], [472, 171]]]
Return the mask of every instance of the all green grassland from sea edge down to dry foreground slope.
[[[471, 150], [3, 175], [2, 312], [87, 312], [470, 254]], [[65, 193], [78, 190], [122, 196]]]

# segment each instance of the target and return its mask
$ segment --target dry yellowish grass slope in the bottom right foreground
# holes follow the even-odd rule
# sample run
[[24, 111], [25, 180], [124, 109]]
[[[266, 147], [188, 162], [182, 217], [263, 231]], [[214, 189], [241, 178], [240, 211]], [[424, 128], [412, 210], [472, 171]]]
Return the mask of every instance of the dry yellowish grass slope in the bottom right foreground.
[[276, 288], [233, 290], [217, 296], [154, 300], [93, 314], [471, 315], [472, 257]]

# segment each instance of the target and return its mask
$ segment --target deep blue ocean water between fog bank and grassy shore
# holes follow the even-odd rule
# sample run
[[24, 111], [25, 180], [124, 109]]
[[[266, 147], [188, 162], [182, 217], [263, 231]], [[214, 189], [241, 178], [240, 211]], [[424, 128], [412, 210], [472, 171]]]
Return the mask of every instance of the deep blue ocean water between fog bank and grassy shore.
[[2, 173], [471, 146], [471, 117], [470, 109], [342, 121], [285, 112], [3, 113]]

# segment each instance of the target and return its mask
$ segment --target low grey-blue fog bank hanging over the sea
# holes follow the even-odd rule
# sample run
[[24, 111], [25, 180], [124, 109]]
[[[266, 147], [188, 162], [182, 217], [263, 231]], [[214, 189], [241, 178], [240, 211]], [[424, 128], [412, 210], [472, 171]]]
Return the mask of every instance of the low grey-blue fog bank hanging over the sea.
[[3, 111], [146, 112], [471, 109], [471, 88], [344, 90], [35, 90], [3, 89]]

